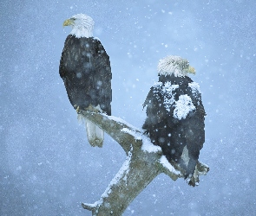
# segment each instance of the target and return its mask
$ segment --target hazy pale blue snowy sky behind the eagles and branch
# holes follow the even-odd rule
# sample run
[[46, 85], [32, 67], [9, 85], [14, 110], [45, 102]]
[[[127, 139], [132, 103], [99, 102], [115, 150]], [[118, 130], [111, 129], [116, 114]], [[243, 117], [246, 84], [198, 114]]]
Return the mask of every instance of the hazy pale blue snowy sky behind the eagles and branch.
[[0, 215], [91, 215], [125, 160], [110, 137], [89, 146], [59, 77], [77, 13], [95, 20], [113, 73], [112, 114], [141, 128], [142, 104], [168, 54], [190, 61], [207, 111], [199, 187], [159, 175], [124, 215], [256, 212], [256, 2], [26, 1], [0, 3]]

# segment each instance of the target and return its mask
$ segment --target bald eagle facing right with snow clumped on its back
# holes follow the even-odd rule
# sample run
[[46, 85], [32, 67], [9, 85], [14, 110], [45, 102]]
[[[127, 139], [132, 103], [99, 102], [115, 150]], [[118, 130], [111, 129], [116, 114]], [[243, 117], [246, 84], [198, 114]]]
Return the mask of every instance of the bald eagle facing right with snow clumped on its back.
[[167, 160], [184, 170], [185, 179], [193, 185], [190, 180], [205, 142], [206, 113], [200, 86], [187, 73], [195, 73], [194, 67], [180, 56], [159, 61], [159, 81], [151, 87], [143, 105], [147, 106], [147, 118], [142, 128], [151, 142], [161, 147]]

